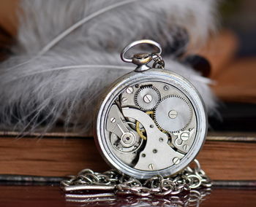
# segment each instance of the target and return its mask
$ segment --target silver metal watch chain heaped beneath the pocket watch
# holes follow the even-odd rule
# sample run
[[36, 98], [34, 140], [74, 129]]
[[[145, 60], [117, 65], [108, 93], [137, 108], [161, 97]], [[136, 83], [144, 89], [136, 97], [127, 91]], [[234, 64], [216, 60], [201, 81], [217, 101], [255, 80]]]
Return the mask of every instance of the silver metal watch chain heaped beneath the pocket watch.
[[211, 179], [200, 168], [200, 163], [194, 160], [194, 167], [187, 167], [175, 176], [153, 176], [147, 180], [138, 180], [116, 170], [97, 173], [84, 169], [78, 176], [70, 176], [61, 181], [61, 188], [65, 192], [83, 190], [108, 190], [115, 195], [136, 195], [138, 197], [164, 197], [178, 195], [198, 188], [211, 187]]

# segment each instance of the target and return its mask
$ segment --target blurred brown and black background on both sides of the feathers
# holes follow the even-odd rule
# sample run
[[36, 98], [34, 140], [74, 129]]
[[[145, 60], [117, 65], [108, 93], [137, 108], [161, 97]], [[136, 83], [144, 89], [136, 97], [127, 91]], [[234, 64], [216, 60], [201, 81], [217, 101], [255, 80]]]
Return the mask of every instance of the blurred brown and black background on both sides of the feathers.
[[[18, 0], [0, 5], [0, 60], [15, 43]], [[228, 0], [219, 4], [219, 31], [197, 51], [211, 62], [212, 88], [219, 98], [219, 117], [211, 130], [255, 131], [256, 122], [256, 1]], [[220, 118], [221, 117], [221, 118]]]

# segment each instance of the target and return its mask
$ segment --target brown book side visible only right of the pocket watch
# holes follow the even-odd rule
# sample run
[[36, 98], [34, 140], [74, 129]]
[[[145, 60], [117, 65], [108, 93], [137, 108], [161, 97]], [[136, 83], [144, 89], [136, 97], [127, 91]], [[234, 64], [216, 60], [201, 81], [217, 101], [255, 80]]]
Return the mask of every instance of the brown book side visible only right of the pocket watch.
[[256, 143], [206, 141], [200, 160], [214, 180], [256, 180]]

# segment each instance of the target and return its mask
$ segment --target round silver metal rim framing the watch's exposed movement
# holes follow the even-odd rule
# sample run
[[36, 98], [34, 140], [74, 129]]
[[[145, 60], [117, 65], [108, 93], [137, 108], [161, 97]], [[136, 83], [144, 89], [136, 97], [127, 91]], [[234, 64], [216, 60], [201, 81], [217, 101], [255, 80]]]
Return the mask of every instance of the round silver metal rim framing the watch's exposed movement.
[[[131, 85], [141, 84], [148, 81], [165, 82], [180, 90], [181, 93], [183, 93], [192, 104], [197, 122], [195, 140], [193, 141], [189, 152], [184, 155], [178, 164], [171, 165], [168, 168], [157, 171], [138, 170], [122, 162], [122, 160], [120, 160], [113, 153], [112, 149], [110, 149], [107, 141], [107, 132], [105, 130], [108, 112], [110, 111], [110, 107], [113, 105], [113, 102], [116, 100], [118, 95], [123, 93], [124, 90]], [[123, 77], [117, 79], [116, 82], [114, 82], [113, 85], [108, 88], [106, 93], [102, 95], [97, 115], [95, 117], [94, 139], [99, 152], [110, 166], [116, 168], [122, 173], [128, 174], [129, 176], [133, 176], [138, 179], [148, 179], [157, 174], [162, 176], [170, 176], [187, 167], [187, 165], [189, 165], [189, 163], [195, 159], [197, 153], [200, 152], [201, 147], [203, 147], [203, 143], [206, 139], [207, 129], [208, 120], [205, 107], [202, 98], [195, 87], [187, 79], [184, 79], [184, 77], [181, 77], [172, 71], [163, 69], [148, 69], [146, 71], [132, 71], [131, 73], [124, 75]], [[159, 162], [160, 161], [161, 160], [159, 160]]]

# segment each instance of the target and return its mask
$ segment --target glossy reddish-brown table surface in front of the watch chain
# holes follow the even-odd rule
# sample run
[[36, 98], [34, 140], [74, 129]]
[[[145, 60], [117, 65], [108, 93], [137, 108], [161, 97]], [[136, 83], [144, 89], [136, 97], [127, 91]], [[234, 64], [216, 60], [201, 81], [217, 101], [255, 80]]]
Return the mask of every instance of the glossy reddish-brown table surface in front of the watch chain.
[[[124, 198], [113, 206], [125, 205]], [[95, 206], [89, 203], [70, 203], [65, 200], [64, 192], [58, 186], [0, 186], [0, 206]], [[101, 206], [109, 206], [102, 204]], [[111, 205], [112, 206], [112, 205]], [[153, 204], [138, 206], [153, 206]], [[160, 206], [160, 205], [159, 205]], [[256, 206], [256, 189], [214, 188], [200, 206]]]

